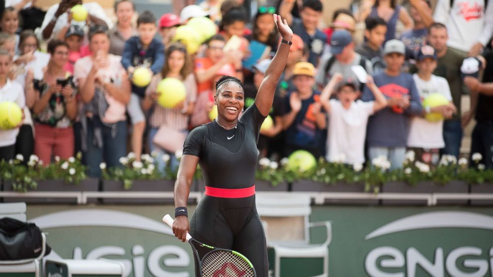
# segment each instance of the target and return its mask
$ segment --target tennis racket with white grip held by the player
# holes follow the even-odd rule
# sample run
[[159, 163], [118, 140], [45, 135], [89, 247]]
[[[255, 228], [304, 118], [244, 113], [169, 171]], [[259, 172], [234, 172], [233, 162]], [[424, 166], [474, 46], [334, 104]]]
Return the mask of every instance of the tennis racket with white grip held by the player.
[[[173, 227], [173, 218], [169, 214], [164, 215], [163, 222]], [[200, 277], [256, 277], [252, 264], [242, 254], [201, 243], [193, 239], [189, 233], [186, 234], [186, 241], [199, 261]], [[201, 253], [205, 252], [203, 257], [197, 249], [200, 249]]]

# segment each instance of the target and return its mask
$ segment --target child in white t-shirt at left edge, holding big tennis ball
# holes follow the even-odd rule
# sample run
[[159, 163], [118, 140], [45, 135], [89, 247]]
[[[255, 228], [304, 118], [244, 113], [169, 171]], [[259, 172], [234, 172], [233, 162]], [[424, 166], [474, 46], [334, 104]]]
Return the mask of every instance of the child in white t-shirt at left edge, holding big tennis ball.
[[[15, 102], [21, 109], [24, 109], [25, 97], [22, 86], [8, 78], [12, 58], [9, 52], [0, 49], [0, 102]], [[9, 161], [14, 158], [15, 140], [21, 125], [22, 123], [10, 130], [0, 129], [0, 161]]]

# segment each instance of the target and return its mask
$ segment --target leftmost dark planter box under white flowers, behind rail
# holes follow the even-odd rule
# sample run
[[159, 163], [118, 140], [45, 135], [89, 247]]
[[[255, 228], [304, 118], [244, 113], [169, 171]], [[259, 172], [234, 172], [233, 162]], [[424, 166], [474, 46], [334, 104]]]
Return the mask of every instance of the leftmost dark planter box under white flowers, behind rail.
[[[82, 192], [99, 190], [99, 179], [87, 178], [79, 184], [67, 184], [62, 180], [39, 181], [35, 190], [28, 190], [28, 193], [39, 192]], [[14, 192], [12, 182], [3, 182], [3, 191]], [[4, 202], [25, 202], [28, 204], [77, 204], [77, 198], [55, 198], [55, 197], [25, 197], [23, 193], [16, 196], [3, 197]]]

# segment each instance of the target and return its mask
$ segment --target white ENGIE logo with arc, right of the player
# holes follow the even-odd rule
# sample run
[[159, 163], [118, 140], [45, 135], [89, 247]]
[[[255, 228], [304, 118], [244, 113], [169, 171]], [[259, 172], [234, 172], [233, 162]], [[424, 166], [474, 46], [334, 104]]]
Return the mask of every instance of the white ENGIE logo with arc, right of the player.
[[[437, 211], [388, 223], [368, 234], [365, 240], [399, 233], [394, 235], [393, 241], [401, 245], [401, 249], [393, 246], [372, 249], [365, 257], [366, 273], [371, 277], [414, 277], [424, 273], [432, 277], [493, 277], [493, 233], [490, 232], [486, 240], [479, 239], [479, 243], [476, 240], [476, 245], [471, 246], [468, 243], [474, 237], [457, 238], [451, 233], [452, 228], [488, 232], [493, 230], [493, 217], [464, 211]], [[410, 234], [413, 230], [420, 230], [425, 236], [417, 236], [416, 232]], [[414, 243], [427, 251], [420, 252], [420, 247]], [[407, 249], [402, 249], [402, 245], [408, 245]], [[434, 250], [429, 251], [430, 247]], [[418, 270], [424, 273], [418, 274]]]

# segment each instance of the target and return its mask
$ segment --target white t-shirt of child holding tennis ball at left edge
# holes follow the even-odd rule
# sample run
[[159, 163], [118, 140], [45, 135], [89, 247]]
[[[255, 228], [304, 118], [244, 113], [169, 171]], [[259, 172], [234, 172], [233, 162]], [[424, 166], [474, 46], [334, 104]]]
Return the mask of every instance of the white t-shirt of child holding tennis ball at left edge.
[[[7, 82], [3, 87], [0, 87], [0, 102], [15, 102], [21, 109], [24, 109], [26, 105], [26, 99], [24, 96], [24, 89], [16, 82], [12, 82], [7, 79]], [[0, 147], [9, 146], [15, 144], [15, 138], [19, 133], [19, 128], [11, 130], [0, 129]]]

